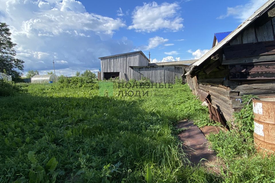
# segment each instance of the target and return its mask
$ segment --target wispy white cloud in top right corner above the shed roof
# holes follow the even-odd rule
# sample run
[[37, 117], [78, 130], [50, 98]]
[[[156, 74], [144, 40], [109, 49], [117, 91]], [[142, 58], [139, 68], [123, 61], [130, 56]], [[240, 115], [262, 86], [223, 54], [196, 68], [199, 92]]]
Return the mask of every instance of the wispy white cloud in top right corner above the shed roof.
[[227, 7], [227, 13], [225, 15], [220, 15], [217, 19], [224, 19], [226, 17], [233, 16], [235, 19], [239, 19], [240, 22], [243, 22], [264, 3], [266, 3], [266, 0], [250, 0], [244, 5]]

